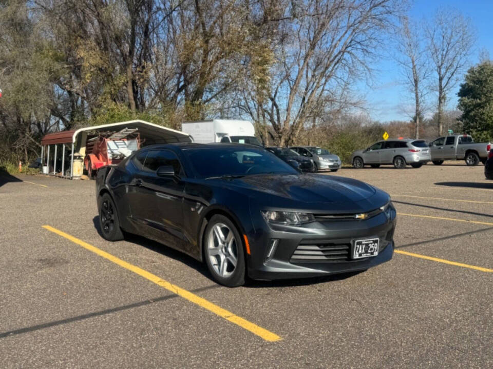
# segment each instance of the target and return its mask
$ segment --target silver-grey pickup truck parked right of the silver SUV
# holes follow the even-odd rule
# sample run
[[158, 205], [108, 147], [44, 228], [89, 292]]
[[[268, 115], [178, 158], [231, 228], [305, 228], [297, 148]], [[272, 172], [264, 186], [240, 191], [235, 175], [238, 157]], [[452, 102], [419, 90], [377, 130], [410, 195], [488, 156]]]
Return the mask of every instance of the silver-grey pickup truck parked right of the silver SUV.
[[490, 143], [475, 144], [468, 135], [439, 137], [430, 143], [431, 161], [441, 165], [444, 160], [465, 160], [468, 166], [475, 166], [486, 162], [490, 148]]

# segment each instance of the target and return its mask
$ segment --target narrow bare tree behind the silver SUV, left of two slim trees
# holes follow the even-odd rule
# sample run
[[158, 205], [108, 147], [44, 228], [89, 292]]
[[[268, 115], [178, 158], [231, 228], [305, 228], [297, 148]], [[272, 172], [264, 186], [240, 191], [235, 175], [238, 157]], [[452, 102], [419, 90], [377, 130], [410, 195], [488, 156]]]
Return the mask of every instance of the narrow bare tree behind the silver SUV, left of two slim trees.
[[430, 68], [420, 29], [407, 16], [401, 19], [397, 45], [397, 63], [402, 67], [405, 85], [414, 95], [414, 138], [418, 139], [420, 120], [423, 116], [423, 99], [427, 92], [425, 80], [429, 76]]

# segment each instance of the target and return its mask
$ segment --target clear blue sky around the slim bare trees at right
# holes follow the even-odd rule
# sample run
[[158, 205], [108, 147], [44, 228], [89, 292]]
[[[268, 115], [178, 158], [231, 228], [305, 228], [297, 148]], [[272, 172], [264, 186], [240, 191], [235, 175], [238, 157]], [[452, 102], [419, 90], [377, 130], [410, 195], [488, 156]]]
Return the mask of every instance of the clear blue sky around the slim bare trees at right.
[[[493, 58], [493, 1], [491, 0], [415, 0], [411, 5], [409, 16], [419, 20], [424, 17], [431, 17], [435, 9], [441, 6], [451, 6], [461, 11], [465, 16], [472, 20], [476, 28], [477, 41], [473, 47], [469, 66], [475, 65], [479, 61], [481, 50], [489, 53]], [[386, 56], [379, 63], [373, 65], [376, 69], [373, 77], [372, 86], [365, 86], [362, 91], [366, 96], [369, 115], [372, 119], [380, 121], [408, 120], [410, 119], [409, 109], [412, 107], [412, 95], [402, 85], [402, 76], [395, 60]], [[462, 79], [462, 78], [461, 78]], [[457, 91], [459, 84], [449, 95], [447, 107], [455, 109], [457, 106]], [[426, 116], [433, 114], [435, 109], [435, 96], [428, 96], [428, 110]]]

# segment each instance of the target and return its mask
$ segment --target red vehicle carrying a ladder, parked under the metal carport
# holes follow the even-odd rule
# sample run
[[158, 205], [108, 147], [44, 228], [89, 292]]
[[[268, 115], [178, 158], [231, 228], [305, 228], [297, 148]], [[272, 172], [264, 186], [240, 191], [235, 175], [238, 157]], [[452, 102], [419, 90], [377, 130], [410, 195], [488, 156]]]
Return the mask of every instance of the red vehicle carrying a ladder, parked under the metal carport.
[[98, 169], [118, 164], [133, 151], [139, 150], [141, 140], [137, 129], [125, 128], [119, 132], [99, 132], [87, 139], [84, 167], [89, 178], [95, 178]]

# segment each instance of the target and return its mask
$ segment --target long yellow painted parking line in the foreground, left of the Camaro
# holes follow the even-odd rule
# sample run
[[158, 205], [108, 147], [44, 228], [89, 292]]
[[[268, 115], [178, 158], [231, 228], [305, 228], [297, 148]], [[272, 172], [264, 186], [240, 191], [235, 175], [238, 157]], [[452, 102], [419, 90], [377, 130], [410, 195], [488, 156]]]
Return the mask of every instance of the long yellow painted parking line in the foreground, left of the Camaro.
[[183, 290], [182, 288], [178, 287], [175, 284], [172, 284], [164, 279], [159, 278], [157, 275], [154, 275], [152, 273], [149, 273], [139, 267], [136, 267], [135, 265], [132, 265], [122, 259], [117, 258], [116, 256], [113, 256], [111, 254], [108, 254], [107, 252], [100, 250], [93, 245], [90, 245], [89, 243], [86, 243], [78, 238], [75, 238], [73, 236], [70, 236], [69, 234], [62, 232], [58, 229], [55, 229], [50, 226], [43, 226], [43, 228], [47, 229], [48, 231], [51, 231], [53, 233], [58, 234], [59, 236], [65, 237], [66, 239], [72, 241], [73, 243], [77, 243], [78, 245], [82, 246], [84, 249], [87, 249], [89, 251], [92, 251], [95, 254], [98, 254], [101, 257], [104, 257], [105, 259], [114, 262], [117, 265], [120, 265], [120, 267], [123, 267], [131, 272], [134, 272], [141, 277], [144, 277], [145, 279], [154, 282], [164, 289], [173, 292], [174, 294], [183, 297], [184, 299], [193, 302], [199, 306], [201, 306], [204, 309], [207, 309], [208, 311], [220, 316], [221, 318], [224, 318], [226, 320], [229, 320], [232, 323], [235, 323], [242, 327], [243, 329], [252, 332], [253, 334], [263, 338], [266, 341], [270, 342], [275, 342], [279, 341], [282, 338], [279, 337], [278, 335], [258, 326], [257, 324], [254, 324], [246, 319], [243, 319], [225, 309], [220, 308], [220, 306], [207, 301], [206, 299], [197, 296], [193, 294], [192, 292], [188, 292], [186, 290]]

